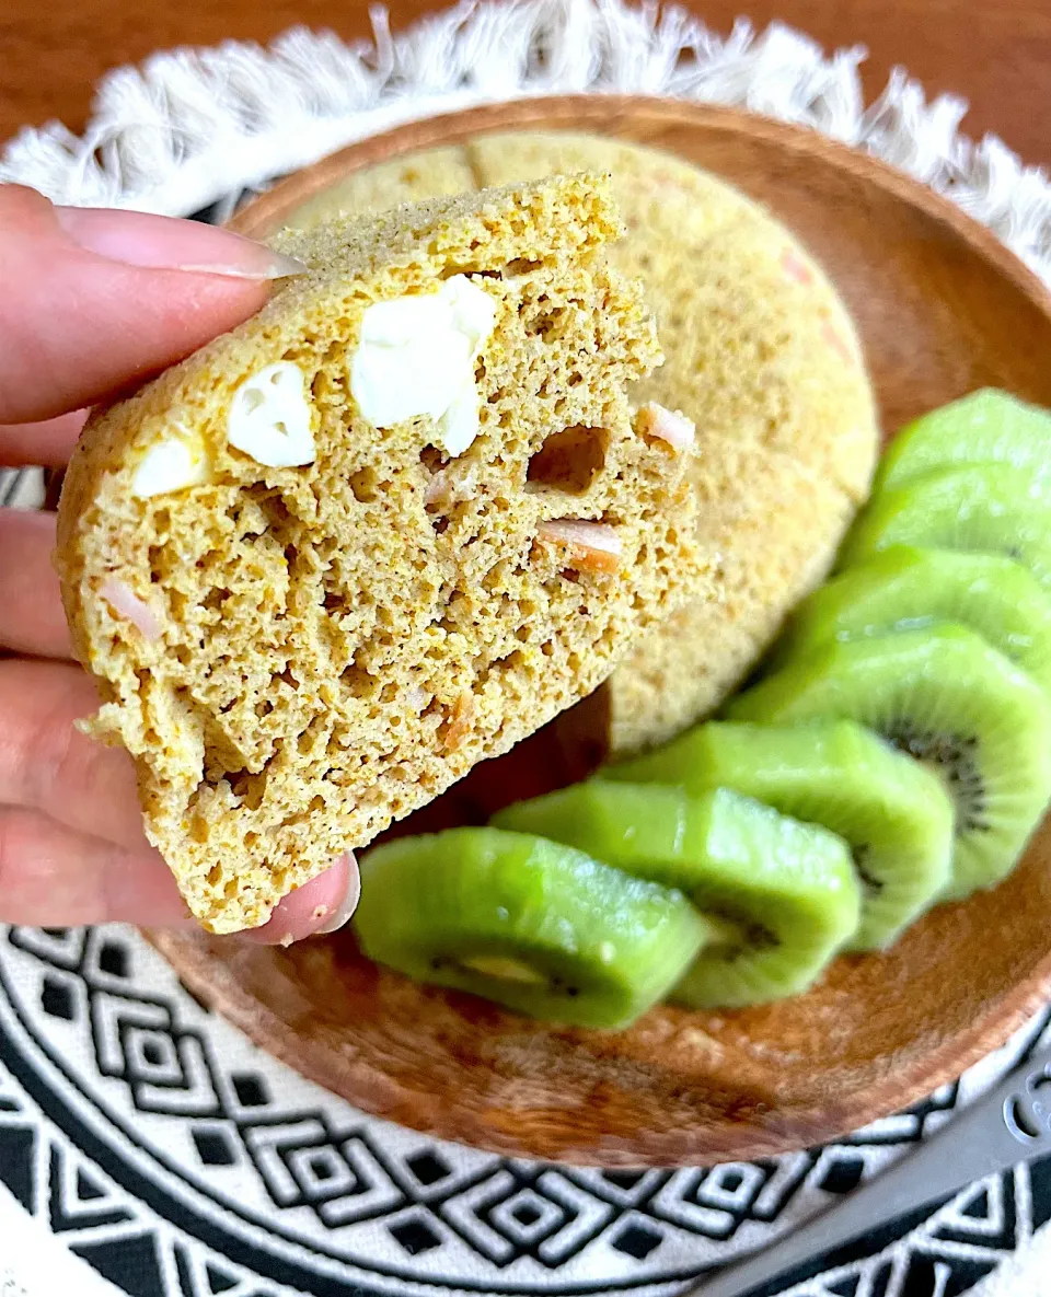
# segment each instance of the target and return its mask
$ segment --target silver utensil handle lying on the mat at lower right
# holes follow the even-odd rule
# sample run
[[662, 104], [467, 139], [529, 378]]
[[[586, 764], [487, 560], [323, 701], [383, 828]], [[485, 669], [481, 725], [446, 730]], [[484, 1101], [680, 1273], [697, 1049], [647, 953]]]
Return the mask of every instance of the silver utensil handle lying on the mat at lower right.
[[1051, 1049], [1034, 1054], [995, 1089], [954, 1117], [842, 1202], [763, 1252], [720, 1270], [680, 1297], [746, 1297], [875, 1226], [948, 1197], [973, 1180], [1051, 1153]]

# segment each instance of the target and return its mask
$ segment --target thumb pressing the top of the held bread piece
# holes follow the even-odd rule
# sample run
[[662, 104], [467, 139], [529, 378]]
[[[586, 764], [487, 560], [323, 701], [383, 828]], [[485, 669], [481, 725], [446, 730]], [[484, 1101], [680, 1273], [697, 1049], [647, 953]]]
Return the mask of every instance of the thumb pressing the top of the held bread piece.
[[135, 385], [257, 311], [305, 270], [228, 230], [56, 208], [0, 185], [0, 423]]

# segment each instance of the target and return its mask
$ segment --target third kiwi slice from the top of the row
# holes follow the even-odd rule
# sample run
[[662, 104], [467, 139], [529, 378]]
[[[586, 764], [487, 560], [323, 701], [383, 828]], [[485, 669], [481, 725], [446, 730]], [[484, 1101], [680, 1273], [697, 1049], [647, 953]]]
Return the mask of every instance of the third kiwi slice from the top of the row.
[[1051, 597], [1013, 559], [894, 545], [833, 577], [795, 611], [771, 665], [829, 639], [955, 621], [1051, 693]]

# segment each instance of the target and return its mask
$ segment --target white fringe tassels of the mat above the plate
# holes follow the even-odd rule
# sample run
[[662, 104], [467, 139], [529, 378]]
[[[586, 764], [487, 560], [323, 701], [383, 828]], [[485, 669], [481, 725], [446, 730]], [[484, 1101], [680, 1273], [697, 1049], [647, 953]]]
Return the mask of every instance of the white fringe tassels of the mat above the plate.
[[186, 215], [392, 126], [458, 108], [567, 92], [731, 104], [867, 149], [948, 195], [1051, 284], [1051, 185], [995, 136], [959, 132], [967, 105], [898, 69], [868, 109], [862, 48], [830, 58], [781, 23], [723, 40], [685, 10], [624, 0], [468, 0], [374, 42], [293, 27], [269, 49], [228, 42], [154, 54], [99, 86], [78, 137], [23, 130], [0, 180], [56, 202]]

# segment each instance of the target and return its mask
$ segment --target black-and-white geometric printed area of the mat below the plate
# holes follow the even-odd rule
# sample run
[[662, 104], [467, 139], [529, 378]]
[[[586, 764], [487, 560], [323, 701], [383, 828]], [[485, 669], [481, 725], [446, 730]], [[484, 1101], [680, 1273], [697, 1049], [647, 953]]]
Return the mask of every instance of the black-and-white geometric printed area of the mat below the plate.
[[[598, 1171], [363, 1115], [209, 1013], [131, 929], [0, 927], [0, 1180], [134, 1297], [671, 1294], [933, 1134], [1051, 1039], [1050, 1018], [841, 1144]], [[1051, 1160], [897, 1222], [782, 1291], [954, 1297], [1048, 1218]]]

